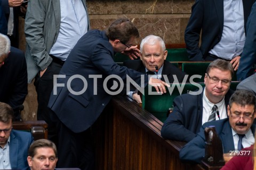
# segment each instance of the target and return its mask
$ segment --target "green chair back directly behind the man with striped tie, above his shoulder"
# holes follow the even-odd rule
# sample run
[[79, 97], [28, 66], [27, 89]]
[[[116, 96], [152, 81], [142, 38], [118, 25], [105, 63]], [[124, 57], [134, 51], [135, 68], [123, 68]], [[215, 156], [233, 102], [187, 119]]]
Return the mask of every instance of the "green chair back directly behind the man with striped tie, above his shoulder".
[[183, 62], [182, 71], [186, 72], [189, 77], [201, 75], [201, 78], [194, 78], [194, 82], [204, 82], [204, 76], [210, 62]]

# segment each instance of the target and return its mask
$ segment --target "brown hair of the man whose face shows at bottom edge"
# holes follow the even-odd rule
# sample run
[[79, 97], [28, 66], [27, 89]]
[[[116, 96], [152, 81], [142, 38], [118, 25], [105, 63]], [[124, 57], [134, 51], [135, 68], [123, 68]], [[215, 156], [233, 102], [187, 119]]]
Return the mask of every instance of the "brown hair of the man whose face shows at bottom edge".
[[56, 145], [52, 141], [47, 139], [39, 139], [34, 141], [28, 149], [28, 156], [33, 158], [36, 155], [36, 151], [38, 148], [52, 148], [55, 153], [55, 157], [58, 157]]

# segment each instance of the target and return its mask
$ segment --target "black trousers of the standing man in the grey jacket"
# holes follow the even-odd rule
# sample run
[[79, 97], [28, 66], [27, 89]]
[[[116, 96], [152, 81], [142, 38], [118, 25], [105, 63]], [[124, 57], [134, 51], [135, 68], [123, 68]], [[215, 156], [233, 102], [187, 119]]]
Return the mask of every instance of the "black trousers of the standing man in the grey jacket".
[[57, 145], [57, 131], [55, 125], [51, 121], [49, 114], [50, 109], [47, 107], [47, 105], [53, 89], [53, 75], [58, 75], [61, 67], [61, 64], [52, 62], [42, 77], [40, 77], [40, 73], [38, 72], [34, 83], [38, 102], [37, 120], [44, 120], [48, 124], [48, 139]]

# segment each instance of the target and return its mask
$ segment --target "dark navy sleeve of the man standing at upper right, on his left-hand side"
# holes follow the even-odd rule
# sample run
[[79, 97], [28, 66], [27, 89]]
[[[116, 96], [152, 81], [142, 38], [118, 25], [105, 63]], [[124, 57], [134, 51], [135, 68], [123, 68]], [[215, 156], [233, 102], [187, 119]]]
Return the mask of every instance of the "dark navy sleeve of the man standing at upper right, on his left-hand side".
[[204, 7], [202, 0], [196, 0], [185, 30], [185, 43], [190, 61], [204, 61], [199, 48], [200, 32], [203, 25]]

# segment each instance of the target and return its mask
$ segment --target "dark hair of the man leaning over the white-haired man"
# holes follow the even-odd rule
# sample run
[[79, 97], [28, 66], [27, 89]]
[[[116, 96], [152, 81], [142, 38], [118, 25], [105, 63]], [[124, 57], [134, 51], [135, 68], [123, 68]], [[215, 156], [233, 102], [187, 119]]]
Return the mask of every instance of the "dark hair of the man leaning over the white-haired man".
[[129, 42], [130, 38], [140, 36], [138, 29], [133, 25], [129, 19], [117, 19], [108, 27], [106, 32], [107, 37], [114, 41], [119, 39], [122, 43]]

